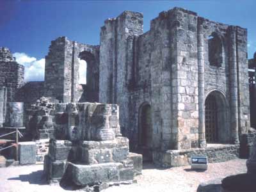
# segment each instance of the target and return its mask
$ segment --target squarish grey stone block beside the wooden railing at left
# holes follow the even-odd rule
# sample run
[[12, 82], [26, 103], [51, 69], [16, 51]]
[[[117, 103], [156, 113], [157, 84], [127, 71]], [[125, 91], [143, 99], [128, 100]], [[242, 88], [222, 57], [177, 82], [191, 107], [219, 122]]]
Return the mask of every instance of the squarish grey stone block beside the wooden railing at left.
[[36, 143], [33, 141], [19, 143], [20, 164], [36, 163]]

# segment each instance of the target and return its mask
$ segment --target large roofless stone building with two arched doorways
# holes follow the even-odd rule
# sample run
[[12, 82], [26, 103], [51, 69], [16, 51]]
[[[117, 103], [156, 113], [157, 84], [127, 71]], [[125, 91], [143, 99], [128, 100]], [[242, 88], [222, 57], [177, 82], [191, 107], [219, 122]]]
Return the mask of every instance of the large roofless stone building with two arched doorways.
[[[122, 18], [132, 23], [123, 33]], [[120, 105], [122, 133], [135, 143], [131, 147], [139, 143], [144, 103], [151, 106], [152, 148], [205, 147], [205, 99], [212, 92], [225, 104], [220, 140], [237, 143], [238, 133], [250, 127], [246, 29], [173, 8], [159, 13], [147, 33], [119, 38], [131, 28], [138, 31], [140, 20], [142, 15], [124, 12], [106, 20], [100, 33], [100, 102]], [[217, 45], [218, 55], [212, 52]]]

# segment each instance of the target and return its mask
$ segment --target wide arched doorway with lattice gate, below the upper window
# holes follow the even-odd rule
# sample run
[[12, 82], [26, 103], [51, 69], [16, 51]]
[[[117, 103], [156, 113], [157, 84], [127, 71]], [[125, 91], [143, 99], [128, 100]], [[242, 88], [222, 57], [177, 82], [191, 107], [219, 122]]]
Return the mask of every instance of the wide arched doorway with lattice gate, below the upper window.
[[205, 99], [205, 140], [207, 143], [230, 142], [227, 103], [223, 93], [214, 90]]

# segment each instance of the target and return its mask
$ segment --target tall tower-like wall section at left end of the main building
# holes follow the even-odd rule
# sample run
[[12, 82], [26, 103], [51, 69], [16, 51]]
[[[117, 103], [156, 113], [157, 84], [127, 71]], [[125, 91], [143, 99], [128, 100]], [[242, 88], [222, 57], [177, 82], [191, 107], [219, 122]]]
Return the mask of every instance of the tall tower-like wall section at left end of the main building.
[[99, 101], [120, 106], [120, 126], [125, 136], [133, 133], [133, 127], [129, 128], [134, 126], [129, 118], [129, 89], [134, 87], [134, 43], [142, 33], [143, 15], [129, 11], [105, 20], [100, 32]]

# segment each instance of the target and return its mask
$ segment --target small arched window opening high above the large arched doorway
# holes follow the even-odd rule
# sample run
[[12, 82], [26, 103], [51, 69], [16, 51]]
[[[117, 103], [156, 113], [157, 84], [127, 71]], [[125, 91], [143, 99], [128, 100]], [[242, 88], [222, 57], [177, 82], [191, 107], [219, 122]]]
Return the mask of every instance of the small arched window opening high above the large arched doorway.
[[208, 58], [212, 66], [220, 67], [223, 62], [221, 39], [216, 33], [208, 38]]

